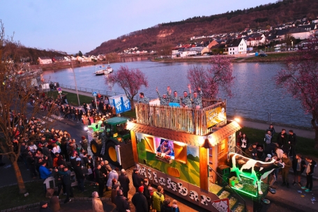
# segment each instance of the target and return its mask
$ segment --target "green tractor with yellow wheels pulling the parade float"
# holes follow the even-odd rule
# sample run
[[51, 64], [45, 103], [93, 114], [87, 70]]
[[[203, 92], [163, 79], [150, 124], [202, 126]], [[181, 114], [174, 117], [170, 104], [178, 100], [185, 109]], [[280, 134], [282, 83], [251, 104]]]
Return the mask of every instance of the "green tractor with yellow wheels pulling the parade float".
[[103, 157], [123, 169], [135, 165], [130, 130], [126, 130], [128, 120], [124, 117], [114, 117], [88, 126], [94, 134], [91, 140], [91, 152], [94, 156]]

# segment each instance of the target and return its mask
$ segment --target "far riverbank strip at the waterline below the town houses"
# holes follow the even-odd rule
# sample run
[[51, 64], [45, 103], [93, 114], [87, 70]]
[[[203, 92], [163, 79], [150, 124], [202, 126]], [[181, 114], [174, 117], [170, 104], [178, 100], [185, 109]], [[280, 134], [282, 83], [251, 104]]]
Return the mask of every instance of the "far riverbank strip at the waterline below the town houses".
[[[286, 61], [289, 56], [295, 54], [295, 52], [266, 52], [267, 56], [244, 56], [244, 57], [233, 57], [233, 63], [242, 63], [242, 62], [277, 62], [277, 61]], [[165, 59], [152, 59], [153, 62], [159, 63], [175, 63], [175, 62], [200, 62], [208, 63], [210, 61], [210, 56], [191, 56], [186, 58], [165, 58]]]

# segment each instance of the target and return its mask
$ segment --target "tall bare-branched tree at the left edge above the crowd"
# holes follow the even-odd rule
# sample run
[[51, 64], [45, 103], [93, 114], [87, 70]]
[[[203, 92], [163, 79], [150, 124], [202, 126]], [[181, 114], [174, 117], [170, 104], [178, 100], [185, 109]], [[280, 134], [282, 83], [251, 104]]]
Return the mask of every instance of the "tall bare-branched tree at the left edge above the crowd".
[[[27, 119], [40, 112], [39, 99], [33, 98], [38, 93], [38, 73], [19, 75], [22, 68], [15, 61], [18, 48], [13, 36], [6, 38], [4, 25], [0, 20], [0, 155], [8, 157], [15, 170], [19, 192], [27, 192], [17, 160], [20, 156], [21, 144], [34, 139], [37, 134], [30, 135]], [[35, 99], [33, 106], [30, 100]], [[45, 116], [50, 116], [54, 107]]]

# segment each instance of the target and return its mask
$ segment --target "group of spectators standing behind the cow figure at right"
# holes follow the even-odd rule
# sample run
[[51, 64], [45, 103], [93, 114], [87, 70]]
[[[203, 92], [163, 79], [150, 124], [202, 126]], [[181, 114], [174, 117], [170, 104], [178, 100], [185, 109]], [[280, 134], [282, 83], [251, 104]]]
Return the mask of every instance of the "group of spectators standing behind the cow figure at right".
[[[283, 128], [281, 132], [276, 133], [275, 128], [271, 124], [265, 132], [264, 143], [250, 144], [250, 139], [243, 132], [239, 132], [237, 137], [238, 153], [254, 160], [264, 162], [281, 162], [284, 167], [282, 169], [274, 169], [270, 175], [270, 186], [277, 182], [278, 174], [282, 174], [282, 186], [289, 188], [289, 169], [294, 171], [294, 181], [292, 185], [299, 185], [305, 192], [312, 191], [312, 175], [317, 163], [310, 157], [302, 157], [300, 153], [296, 153], [296, 134], [294, 130], [289, 130], [287, 135]], [[305, 162], [307, 161], [307, 164]], [[301, 183], [301, 174], [306, 170], [307, 182], [303, 186]]]

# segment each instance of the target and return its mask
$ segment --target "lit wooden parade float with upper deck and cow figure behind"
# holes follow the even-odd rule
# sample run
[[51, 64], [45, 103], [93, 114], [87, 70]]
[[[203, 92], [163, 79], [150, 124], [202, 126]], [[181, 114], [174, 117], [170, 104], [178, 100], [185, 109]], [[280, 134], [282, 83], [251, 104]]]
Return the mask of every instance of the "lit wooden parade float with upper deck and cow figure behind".
[[202, 103], [202, 109], [136, 105], [127, 129], [139, 175], [209, 211], [257, 211], [268, 185], [255, 183], [259, 173], [235, 169], [243, 161], [237, 154], [228, 166], [241, 126], [227, 120], [226, 100]]

